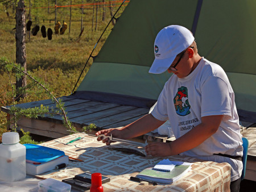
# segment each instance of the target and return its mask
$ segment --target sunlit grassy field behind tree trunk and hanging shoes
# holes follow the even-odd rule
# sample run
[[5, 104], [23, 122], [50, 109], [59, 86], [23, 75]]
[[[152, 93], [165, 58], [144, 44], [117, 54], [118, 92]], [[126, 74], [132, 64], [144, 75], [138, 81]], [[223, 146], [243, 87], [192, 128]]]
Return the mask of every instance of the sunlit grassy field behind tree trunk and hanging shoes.
[[[49, 1], [50, 6], [55, 5], [55, 1]], [[57, 1], [58, 6], [68, 6], [70, 1]], [[81, 7], [72, 7], [72, 19], [71, 19], [71, 32], [69, 33], [69, 12], [70, 7], [58, 7], [57, 8], [57, 20], [61, 23], [66, 22], [68, 28], [65, 31], [64, 35], [55, 35], [55, 9], [49, 8], [48, 13], [48, 1], [31, 1], [31, 20], [32, 26], [35, 27], [38, 24], [40, 27], [42, 25], [47, 28], [51, 28], [53, 31], [52, 40], [48, 40], [47, 37], [43, 38], [41, 32], [39, 31], [36, 36], [29, 35], [27, 32], [26, 36], [26, 54], [27, 54], [27, 69], [31, 70], [32, 73], [42, 78], [49, 86], [52, 87], [53, 92], [56, 97], [63, 95], [71, 94], [73, 87], [79, 77], [82, 68], [84, 68], [86, 60], [90, 53], [93, 50], [94, 45], [96, 44], [98, 38], [104, 31], [104, 28], [110, 21], [110, 4], [106, 3], [106, 18], [102, 20], [102, 14], [104, 12], [104, 6], [98, 5], [97, 13], [97, 29], [96, 27], [96, 5], [89, 5], [93, 2], [102, 2], [102, 1], [72, 1], [72, 5], [81, 5], [82, 2], [86, 4], [84, 8], [84, 14], [81, 14]], [[29, 3], [29, 1], [25, 1]], [[118, 6], [121, 3], [112, 2], [113, 14], [118, 9]], [[125, 3], [127, 5], [127, 3]], [[26, 20], [29, 18], [29, 7], [26, 4]], [[40, 8], [41, 7], [41, 8]], [[42, 8], [45, 7], [45, 8]], [[118, 11], [118, 14], [115, 16], [121, 15], [122, 11], [125, 9], [125, 6], [122, 6]], [[9, 16], [7, 16], [7, 13]], [[83, 19], [84, 32], [79, 38], [81, 31], [81, 16]], [[94, 19], [92, 27], [92, 19]], [[51, 20], [51, 22], [50, 22]], [[27, 23], [27, 21], [26, 21]], [[9, 6], [6, 9], [6, 6], [3, 3], [0, 3], [0, 57], [5, 56], [11, 61], [16, 60], [16, 47], [15, 47], [15, 10], [13, 7]], [[113, 28], [113, 24], [110, 24], [105, 34], [102, 36], [100, 42], [97, 44], [97, 47], [93, 53], [93, 56], [96, 56], [98, 51], [100, 51], [102, 45], [107, 39], [110, 31]], [[88, 65], [86, 66], [85, 72], [82, 74], [81, 80], [84, 78], [86, 72], [88, 71], [90, 65], [92, 65], [92, 59], [89, 60]], [[11, 81], [15, 82], [15, 77], [11, 77]], [[79, 82], [79, 84], [80, 84]], [[1, 106], [11, 105], [11, 97], [7, 93], [11, 90], [9, 76], [0, 67], [0, 101]], [[42, 99], [48, 99], [46, 95], [40, 94], [30, 94], [27, 98], [20, 102], [31, 102], [38, 101]], [[0, 112], [0, 124], [6, 122], [6, 114]], [[5, 128], [0, 130], [0, 136], [2, 132], [5, 132]]]

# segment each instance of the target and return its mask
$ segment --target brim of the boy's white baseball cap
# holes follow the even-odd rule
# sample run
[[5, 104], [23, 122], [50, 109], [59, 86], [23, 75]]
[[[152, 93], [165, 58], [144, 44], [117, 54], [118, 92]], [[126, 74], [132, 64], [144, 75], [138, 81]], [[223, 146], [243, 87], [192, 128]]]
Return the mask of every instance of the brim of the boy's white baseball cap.
[[165, 72], [174, 62], [175, 57], [176, 55], [167, 59], [155, 59], [148, 73], [160, 74]]

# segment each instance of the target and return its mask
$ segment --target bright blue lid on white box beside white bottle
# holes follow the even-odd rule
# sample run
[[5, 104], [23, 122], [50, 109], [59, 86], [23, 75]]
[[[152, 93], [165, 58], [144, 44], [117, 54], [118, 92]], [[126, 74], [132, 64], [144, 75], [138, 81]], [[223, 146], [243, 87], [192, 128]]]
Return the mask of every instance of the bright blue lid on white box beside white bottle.
[[35, 162], [48, 162], [64, 156], [64, 151], [34, 144], [24, 144], [26, 147], [26, 160]]

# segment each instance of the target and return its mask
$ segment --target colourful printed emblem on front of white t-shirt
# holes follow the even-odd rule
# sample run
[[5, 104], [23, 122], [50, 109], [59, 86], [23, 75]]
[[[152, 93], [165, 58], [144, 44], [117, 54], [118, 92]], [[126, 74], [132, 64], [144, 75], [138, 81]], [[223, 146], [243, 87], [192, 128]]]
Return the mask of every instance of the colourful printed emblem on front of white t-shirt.
[[180, 116], [186, 116], [190, 114], [190, 105], [188, 102], [188, 89], [187, 87], [181, 86], [178, 88], [177, 93], [174, 97], [174, 106], [176, 113]]

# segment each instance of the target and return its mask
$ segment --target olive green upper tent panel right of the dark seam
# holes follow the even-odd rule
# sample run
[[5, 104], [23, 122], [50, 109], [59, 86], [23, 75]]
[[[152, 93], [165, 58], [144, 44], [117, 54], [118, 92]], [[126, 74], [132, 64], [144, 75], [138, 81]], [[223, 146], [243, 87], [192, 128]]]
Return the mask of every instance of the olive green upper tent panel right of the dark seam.
[[197, 24], [201, 55], [225, 72], [256, 74], [256, 1], [204, 1]]

